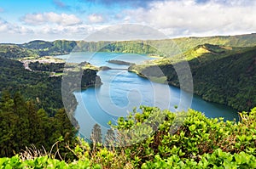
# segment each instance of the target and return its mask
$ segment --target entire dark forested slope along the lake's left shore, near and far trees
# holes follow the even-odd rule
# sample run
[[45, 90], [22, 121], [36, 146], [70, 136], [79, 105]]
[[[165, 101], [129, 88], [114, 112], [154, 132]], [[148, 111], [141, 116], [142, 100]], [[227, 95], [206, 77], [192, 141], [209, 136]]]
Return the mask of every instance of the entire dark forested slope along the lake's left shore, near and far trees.
[[[72, 72], [80, 76], [75, 70]], [[73, 159], [73, 154], [65, 149], [66, 144], [73, 144], [79, 127], [71, 115], [77, 101], [70, 90], [95, 85], [96, 78], [96, 70], [81, 70], [81, 82], [70, 81], [69, 90], [61, 93], [62, 76], [25, 70], [19, 61], [0, 57], [0, 156], [18, 154], [32, 144], [49, 152], [61, 138], [55, 151], [61, 149], [62, 157], [71, 155], [67, 158]], [[62, 94], [70, 103], [66, 110]]]

